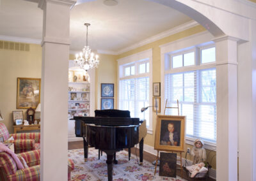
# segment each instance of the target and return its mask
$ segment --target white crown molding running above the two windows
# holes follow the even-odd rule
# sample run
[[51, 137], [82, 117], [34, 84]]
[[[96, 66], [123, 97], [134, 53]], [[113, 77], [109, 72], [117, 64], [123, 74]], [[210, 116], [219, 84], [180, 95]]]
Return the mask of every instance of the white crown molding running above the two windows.
[[160, 39], [165, 38], [167, 36], [171, 36], [172, 34], [179, 33], [180, 31], [184, 31], [184, 30], [189, 29], [191, 27], [195, 27], [196, 25], [199, 25], [199, 24], [195, 20], [192, 20], [192, 21], [187, 22], [187, 23], [182, 24], [182, 25], [178, 25], [176, 27], [173, 27], [172, 29], [168, 29], [167, 31], [156, 34], [154, 36], [151, 36], [150, 38], [147, 38], [145, 40], [139, 41], [138, 43], [136, 43], [134, 45], [131, 45], [130, 47], [119, 50], [117, 52], [117, 54], [122, 54], [124, 52], [128, 52], [129, 50], [133, 50], [133, 49], [141, 47], [143, 45], [147, 45], [148, 43], [152, 43], [154, 41], [160, 40]]

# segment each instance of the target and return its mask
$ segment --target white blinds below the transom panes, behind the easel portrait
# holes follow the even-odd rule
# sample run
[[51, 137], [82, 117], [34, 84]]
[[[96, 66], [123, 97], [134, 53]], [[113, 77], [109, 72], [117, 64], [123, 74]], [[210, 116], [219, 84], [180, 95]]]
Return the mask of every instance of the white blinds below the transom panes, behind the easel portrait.
[[[168, 73], [164, 77], [167, 106], [177, 106], [186, 115], [186, 135], [216, 142], [216, 69]], [[177, 109], [166, 109], [177, 115]]]

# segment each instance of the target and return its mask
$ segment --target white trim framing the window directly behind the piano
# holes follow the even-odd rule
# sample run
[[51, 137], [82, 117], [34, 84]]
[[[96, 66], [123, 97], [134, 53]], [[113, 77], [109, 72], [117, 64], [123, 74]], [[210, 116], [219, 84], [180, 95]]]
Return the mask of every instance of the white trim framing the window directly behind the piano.
[[[118, 59], [117, 64], [118, 64], [118, 71], [117, 71], [117, 76], [118, 76], [118, 81], [117, 81], [117, 87], [119, 89], [119, 80], [127, 79], [127, 78], [134, 78], [135, 76], [125, 76], [123, 77], [124, 73], [120, 71], [120, 66], [125, 65], [125, 64], [132, 64], [132, 62], [138, 62], [143, 63], [145, 62], [145, 59], [149, 59], [149, 73], [141, 73], [136, 75], [136, 78], [142, 77], [142, 76], [148, 76], [149, 77], [149, 105], [152, 105], [152, 89], [153, 89], [153, 64], [152, 64], [152, 48], [145, 50], [143, 52], [139, 52], [137, 54], [129, 55], [127, 57], [124, 57], [122, 59]], [[135, 69], [135, 74], [136, 74], [136, 69]], [[119, 90], [118, 90], [119, 92]], [[117, 107], [119, 108], [119, 94], [117, 96]], [[148, 109], [149, 111], [149, 126], [147, 127], [147, 133], [148, 134], [153, 134], [153, 123], [152, 123], [152, 109]]]

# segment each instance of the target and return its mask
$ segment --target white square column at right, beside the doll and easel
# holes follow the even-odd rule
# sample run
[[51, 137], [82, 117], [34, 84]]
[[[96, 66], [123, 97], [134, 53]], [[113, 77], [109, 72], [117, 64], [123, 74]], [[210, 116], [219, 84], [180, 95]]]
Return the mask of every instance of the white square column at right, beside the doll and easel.
[[237, 40], [216, 43], [217, 150], [216, 180], [237, 180]]

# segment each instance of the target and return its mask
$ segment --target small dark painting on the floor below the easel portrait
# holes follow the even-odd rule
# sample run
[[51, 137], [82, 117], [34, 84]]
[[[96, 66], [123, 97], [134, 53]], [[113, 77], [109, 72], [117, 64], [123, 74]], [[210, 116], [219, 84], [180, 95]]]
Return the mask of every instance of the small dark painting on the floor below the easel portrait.
[[176, 177], [177, 154], [160, 153], [159, 176]]

